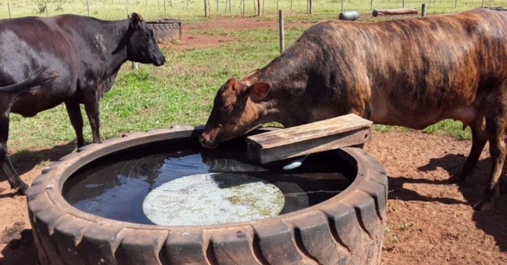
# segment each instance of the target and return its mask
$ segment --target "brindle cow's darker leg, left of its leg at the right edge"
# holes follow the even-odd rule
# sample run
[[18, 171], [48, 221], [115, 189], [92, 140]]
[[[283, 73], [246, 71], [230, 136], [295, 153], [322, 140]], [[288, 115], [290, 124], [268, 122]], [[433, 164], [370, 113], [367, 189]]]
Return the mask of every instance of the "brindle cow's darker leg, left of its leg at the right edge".
[[484, 121], [484, 116], [479, 116], [476, 120], [469, 124], [472, 129], [472, 149], [466, 158], [463, 168], [456, 175], [452, 176], [449, 181], [463, 182], [466, 177], [474, 171], [477, 161], [479, 161], [479, 157], [481, 156], [484, 146], [488, 141], [488, 134], [486, 132]]

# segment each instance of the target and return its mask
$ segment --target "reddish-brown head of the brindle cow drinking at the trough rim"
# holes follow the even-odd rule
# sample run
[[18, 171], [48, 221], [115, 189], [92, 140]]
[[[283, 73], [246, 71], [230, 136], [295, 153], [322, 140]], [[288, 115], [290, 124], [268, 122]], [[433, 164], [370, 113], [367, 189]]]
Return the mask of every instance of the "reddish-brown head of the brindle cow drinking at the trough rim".
[[215, 148], [260, 125], [264, 113], [259, 103], [270, 89], [269, 83], [250, 84], [229, 79], [216, 93], [213, 109], [199, 138], [201, 145]]

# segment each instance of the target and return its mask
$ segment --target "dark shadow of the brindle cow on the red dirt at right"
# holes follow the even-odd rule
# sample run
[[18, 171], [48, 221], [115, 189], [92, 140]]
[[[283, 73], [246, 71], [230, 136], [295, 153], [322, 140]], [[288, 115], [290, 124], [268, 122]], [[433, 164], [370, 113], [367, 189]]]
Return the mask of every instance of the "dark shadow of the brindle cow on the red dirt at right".
[[[444, 169], [452, 176], [459, 172], [466, 156], [457, 154], [447, 154], [439, 158], [431, 158], [430, 161], [419, 167], [419, 171], [433, 171], [438, 168]], [[502, 181], [507, 181], [505, 172], [507, 166], [504, 166], [502, 172]], [[389, 189], [394, 190], [389, 193], [389, 198], [396, 198], [403, 201], [423, 201], [423, 202], [439, 202], [443, 204], [466, 204], [473, 206], [477, 203], [488, 184], [491, 163], [489, 157], [481, 159], [473, 174], [469, 175], [463, 183], [452, 184], [447, 180], [429, 180], [414, 179], [409, 177], [389, 177]], [[421, 184], [437, 184], [437, 185], [457, 185], [462, 193], [466, 203], [445, 197], [426, 197], [413, 190], [403, 188], [403, 183], [421, 183]], [[483, 230], [486, 234], [492, 236], [501, 251], [507, 251], [507, 194], [500, 193], [496, 201], [495, 210], [492, 212], [475, 211], [472, 220], [476, 223], [476, 227]]]

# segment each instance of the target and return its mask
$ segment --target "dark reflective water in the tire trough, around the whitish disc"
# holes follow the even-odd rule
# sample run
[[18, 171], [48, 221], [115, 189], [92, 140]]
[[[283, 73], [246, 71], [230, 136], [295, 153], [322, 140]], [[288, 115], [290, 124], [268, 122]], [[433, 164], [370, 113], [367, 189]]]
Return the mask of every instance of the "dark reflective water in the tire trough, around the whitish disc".
[[[185, 148], [186, 147], [186, 148]], [[146, 147], [92, 163], [65, 183], [64, 195], [74, 207], [106, 218], [152, 224], [142, 203], [154, 188], [196, 174], [237, 172], [274, 184], [285, 197], [280, 214], [300, 210], [344, 190], [350, 181], [339, 173], [331, 154], [315, 154], [293, 171], [283, 163], [259, 165], [245, 151], [226, 145], [201, 149], [194, 143]]]

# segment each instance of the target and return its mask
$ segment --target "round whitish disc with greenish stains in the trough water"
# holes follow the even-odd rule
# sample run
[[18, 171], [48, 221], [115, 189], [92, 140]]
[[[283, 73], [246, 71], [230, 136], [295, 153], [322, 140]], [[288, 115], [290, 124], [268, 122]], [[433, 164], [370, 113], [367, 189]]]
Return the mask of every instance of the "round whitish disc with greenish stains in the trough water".
[[211, 225], [278, 215], [285, 204], [275, 185], [240, 173], [210, 173], [169, 181], [142, 203], [158, 225]]

